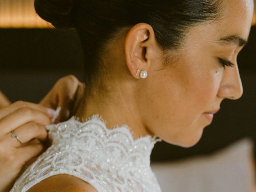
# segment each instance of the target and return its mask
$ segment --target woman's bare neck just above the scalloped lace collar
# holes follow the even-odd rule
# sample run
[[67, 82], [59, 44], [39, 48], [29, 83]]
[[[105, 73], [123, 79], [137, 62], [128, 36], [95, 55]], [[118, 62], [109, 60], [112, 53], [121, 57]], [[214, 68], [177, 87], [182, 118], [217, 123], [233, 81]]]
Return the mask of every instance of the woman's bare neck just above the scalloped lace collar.
[[94, 92], [91, 96], [84, 96], [76, 117], [84, 120], [94, 114], [99, 114], [106, 120], [106, 126], [110, 129], [121, 124], [128, 125], [133, 132], [134, 139], [146, 135], [153, 136], [144, 126], [138, 104], [133, 98], [127, 93], [127, 89], [105, 97]]

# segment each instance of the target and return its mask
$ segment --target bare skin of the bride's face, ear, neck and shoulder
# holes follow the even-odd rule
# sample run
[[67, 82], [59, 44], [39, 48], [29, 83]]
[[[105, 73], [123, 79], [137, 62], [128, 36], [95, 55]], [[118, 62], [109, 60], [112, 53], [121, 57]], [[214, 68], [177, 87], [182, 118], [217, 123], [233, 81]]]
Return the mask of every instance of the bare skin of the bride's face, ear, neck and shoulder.
[[[225, 0], [223, 6], [220, 20], [190, 28], [183, 46], [168, 53], [167, 68], [163, 68], [163, 52], [150, 25], [140, 23], [121, 33], [102, 53], [103, 64], [109, 69], [103, 80], [108, 94], [99, 94], [95, 88], [92, 96], [84, 98], [76, 116], [84, 119], [100, 114], [108, 128], [127, 124], [134, 138], [149, 134], [178, 146], [196, 144], [211, 123], [204, 113], [218, 110], [225, 98], [238, 99], [243, 93], [236, 62], [242, 46], [220, 39], [248, 39], [253, 0]], [[234, 67], [224, 68], [218, 58]], [[137, 68], [146, 70], [148, 77], [136, 75]], [[56, 183], [63, 183], [66, 177], [52, 176], [28, 192], [44, 191], [47, 186], [56, 192], [74, 188], [95, 191], [87, 189], [90, 185], [86, 182], [58, 190]]]

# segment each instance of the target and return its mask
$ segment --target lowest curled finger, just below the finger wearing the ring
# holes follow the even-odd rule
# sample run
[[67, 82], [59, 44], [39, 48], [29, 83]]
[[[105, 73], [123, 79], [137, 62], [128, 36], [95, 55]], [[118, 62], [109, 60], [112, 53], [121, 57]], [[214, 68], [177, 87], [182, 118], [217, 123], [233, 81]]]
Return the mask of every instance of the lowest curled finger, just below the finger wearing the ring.
[[20, 158], [21, 162], [27, 162], [33, 157], [38, 156], [44, 150], [44, 146], [42, 144], [30, 144], [24, 147], [20, 147], [17, 149], [17, 156]]

